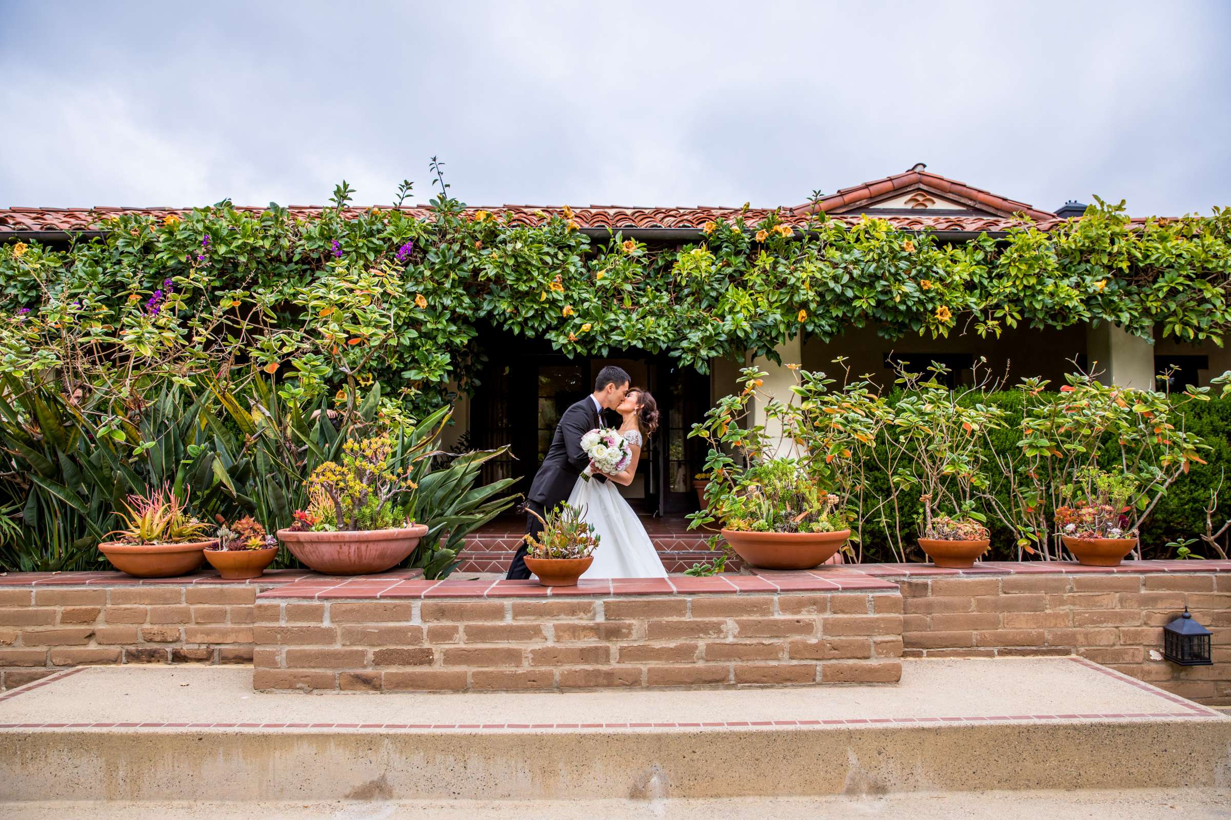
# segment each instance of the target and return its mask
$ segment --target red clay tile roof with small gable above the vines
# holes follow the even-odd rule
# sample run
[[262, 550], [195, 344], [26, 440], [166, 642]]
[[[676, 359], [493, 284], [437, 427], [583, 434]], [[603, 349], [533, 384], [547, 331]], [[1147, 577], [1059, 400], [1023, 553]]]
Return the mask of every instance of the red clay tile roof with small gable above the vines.
[[[832, 219], [840, 219], [847, 224], [859, 221], [860, 210], [858, 205], [868, 202], [875, 207], [873, 200], [904, 191], [912, 186], [926, 186], [937, 192], [948, 194], [956, 200], [969, 203], [971, 210], [986, 213], [949, 213], [933, 210], [932, 213], [911, 214], [885, 214], [883, 218], [897, 227], [907, 230], [933, 229], [937, 231], [1003, 231], [1011, 225], [1019, 224], [1016, 213], [1025, 213], [1032, 219], [1045, 224], [1059, 221], [1056, 215], [1045, 210], [1032, 208], [1025, 203], [1014, 202], [980, 188], [972, 188], [965, 183], [947, 179], [936, 173], [928, 173], [922, 166], [885, 177], [875, 182], [868, 182], [853, 188], [843, 188], [837, 193], [820, 199], [816, 204], [809, 203], [794, 208], [779, 209], [780, 216], [792, 225], [804, 225], [808, 215], [817, 210], [824, 210]], [[188, 208], [7, 208], [0, 209], [0, 235], [27, 231], [84, 231], [98, 230], [102, 220], [121, 214], [145, 214], [156, 219], [162, 219], [170, 214], [183, 215]], [[243, 207], [240, 210], [259, 214], [263, 208]], [[324, 209], [318, 205], [304, 207], [292, 205], [289, 208], [293, 216], [308, 219], [319, 215]], [[343, 213], [347, 216], [357, 216], [364, 213], [366, 208], [348, 208]], [[470, 213], [479, 210], [469, 209]], [[503, 205], [485, 207], [499, 215], [503, 221], [512, 225], [535, 225], [543, 221], [547, 214], [559, 214], [559, 207], [535, 205]], [[431, 210], [426, 205], [414, 205], [403, 208], [403, 211], [417, 218], [428, 218]], [[634, 208], [620, 205], [590, 205], [588, 208], [574, 208], [574, 219], [581, 227], [590, 229], [700, 229], [707, 221], [725, 219], [735, 220], [744, 214], [748, 224], [756, 224], [766, 219], [773, 209], [750, 208]], [[836, 213], [842, 211], [842, 213]], [[878, 214], [879, 215], [879, 214]], [[1040, 226], [1044, 226], [1040, 225]]]

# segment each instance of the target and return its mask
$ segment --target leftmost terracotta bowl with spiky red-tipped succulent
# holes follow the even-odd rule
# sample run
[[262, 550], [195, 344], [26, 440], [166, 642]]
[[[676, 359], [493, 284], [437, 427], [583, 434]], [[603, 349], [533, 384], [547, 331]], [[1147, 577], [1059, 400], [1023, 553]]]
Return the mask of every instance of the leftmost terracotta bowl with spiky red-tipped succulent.
[[204, 550], [218, 541], [206, 537], [209, 524], [188, 515], [186, 500], [180, 500], [169, 484], [148, 495], [132, 494], [124, 511], [117, 513], [123, 526], [107, 535], [98, 551], [116, 569], [137, 578], [187, 575], [201, 567]]

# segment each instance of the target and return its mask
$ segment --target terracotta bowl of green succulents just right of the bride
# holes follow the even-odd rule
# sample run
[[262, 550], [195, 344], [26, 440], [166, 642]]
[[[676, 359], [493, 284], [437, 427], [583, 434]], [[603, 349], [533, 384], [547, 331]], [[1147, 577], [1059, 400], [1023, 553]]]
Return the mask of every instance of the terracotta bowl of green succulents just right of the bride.
[[744, 471], [720, 502], [721, 534], [753, 567], [811, 569], [851, 537], [840, 500], [795, 459], [771, 459]]

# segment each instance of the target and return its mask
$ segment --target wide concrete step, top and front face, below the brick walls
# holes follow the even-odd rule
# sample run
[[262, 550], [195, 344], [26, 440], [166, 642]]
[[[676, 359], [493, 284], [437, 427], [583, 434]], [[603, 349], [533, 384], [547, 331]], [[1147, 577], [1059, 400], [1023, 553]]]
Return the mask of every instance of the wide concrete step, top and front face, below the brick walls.
[[91, 668], [7, 693], [0, 802], [1231, 786], [1231, 718], [1073, 659], [915, 660], [899, 686], [826, 690], [305, 696], [250, 675]]

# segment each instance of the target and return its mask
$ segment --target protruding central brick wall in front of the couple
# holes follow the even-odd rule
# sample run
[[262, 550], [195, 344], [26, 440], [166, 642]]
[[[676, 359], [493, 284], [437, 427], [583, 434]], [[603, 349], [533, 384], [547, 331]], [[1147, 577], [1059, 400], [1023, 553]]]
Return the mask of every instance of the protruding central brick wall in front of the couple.
[[259, 602], [259, 690], [894, 682], [896, 593]]

